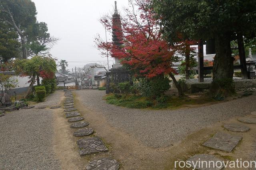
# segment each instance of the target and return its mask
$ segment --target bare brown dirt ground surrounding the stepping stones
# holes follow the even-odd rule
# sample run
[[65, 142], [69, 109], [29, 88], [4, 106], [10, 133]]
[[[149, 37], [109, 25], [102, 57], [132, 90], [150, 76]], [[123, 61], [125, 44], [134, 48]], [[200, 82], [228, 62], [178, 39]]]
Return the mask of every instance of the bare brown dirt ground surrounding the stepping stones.
[[[108, 152], [79, 156], [76, 141], [80, 138], [72, 136], [75, 129], [69, 128], [71, 123], [68, 123], [67, 119], [64, 118], [63, 109], [55, 109], [54, 152], [56, 152], [56, 156], [61, 162], [62, 169], [82, 170], [85, 169], [88, 162], [104, 157], [118, 160], [120, 162], [120, 169], [126, 170], [175, 169], [175, 160], [186, 160], [198, 153], [214, 154], [222, 160], [236, 160], [237, 158], [250, 160], [250, 150], [252, 150], [252, 143], [255, 139], [256, 125], [246, 124], [251, 129], [244, 133], [228, 131], [222, 127], [224, 123], [239, 123], [237, 117], [233, 117], [225, 122], [217, 122], [210, 127], [189, 135], [185, 140], [175, 143], [170, 147], [153, 148], [142, 145], [131, 134], [110, 125], [104, 116], [84, 106], [81, 102], [82, 99], [75, 94], [74, 100], [74, 105], [78, 112], [90, 123], [89, 127], [94, 129], [93, 136], [98, 136], [104, 141], [108, 147]], [[64, 95], [62, 96], [63, 101]], [[206, 140], [218, 131], [241, 135], [242, 141], [232, 152], [224, 152], [202, 146]]]

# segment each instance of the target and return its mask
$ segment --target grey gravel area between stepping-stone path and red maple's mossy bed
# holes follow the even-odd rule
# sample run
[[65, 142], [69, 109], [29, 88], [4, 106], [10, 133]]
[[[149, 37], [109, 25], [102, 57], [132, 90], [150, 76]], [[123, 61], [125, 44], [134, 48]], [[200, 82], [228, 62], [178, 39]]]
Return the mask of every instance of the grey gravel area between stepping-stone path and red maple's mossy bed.
[[256, 96], [204, 107], [150, 110], [106, 104], [102, 100], [105, 91], [79, 90], [76, 94], [84, 106], [102, 113], [111, 125], [131, 133], [150, 147], [167, 147], [213, 123], [243, 116], [256, 109]]

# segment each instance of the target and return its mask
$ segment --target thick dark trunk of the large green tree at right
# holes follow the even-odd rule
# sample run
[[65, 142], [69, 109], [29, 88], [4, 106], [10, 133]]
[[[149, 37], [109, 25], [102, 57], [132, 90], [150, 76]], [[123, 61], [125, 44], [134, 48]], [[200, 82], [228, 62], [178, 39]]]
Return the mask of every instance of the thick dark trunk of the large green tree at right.
[[213, 63], [213, 81], [211, 92], [214, 95], [227, 96], [234, 91], [232, 78], [234, 74], [234, 58], [231, 56], [230, 34], [215, 36], [216, 55]]

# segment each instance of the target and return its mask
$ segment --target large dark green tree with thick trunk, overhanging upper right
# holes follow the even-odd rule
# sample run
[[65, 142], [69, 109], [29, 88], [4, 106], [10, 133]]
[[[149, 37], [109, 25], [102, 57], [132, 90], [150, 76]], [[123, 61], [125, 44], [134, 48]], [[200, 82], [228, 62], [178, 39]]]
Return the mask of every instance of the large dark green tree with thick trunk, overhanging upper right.
[[[164, 35], [168, 41], [175, 42], [179, 36], [185, 39], [215, 39], [213, 82], [218, 93], [219, 82], [232, 81], [234, 69], [230, 41], [236, 39], [241, 29], [254, 32], [256, 0], [153, 0], [154, 10], [161, 18]], [[248, 18], [250, 27], [240, 23]], [[254, 25], [254, 26], [253, 26]], [[177, 34], [178, 33], [178, 34]], [[228, 81], [228, 82], [230, 82]], [[231, 86], [226, 86], [228, 92]], [[225, 89], [225, 88], [224, 88]]]

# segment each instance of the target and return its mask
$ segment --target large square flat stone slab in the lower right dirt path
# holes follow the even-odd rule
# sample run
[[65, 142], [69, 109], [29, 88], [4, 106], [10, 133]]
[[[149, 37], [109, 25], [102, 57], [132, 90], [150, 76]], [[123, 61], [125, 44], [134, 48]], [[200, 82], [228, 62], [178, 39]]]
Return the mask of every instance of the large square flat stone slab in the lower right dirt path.
[[208, 141], [206, 141], [203, 145], [206, 147], [231, 152], [241, 139], [242, 137], [240, 136], [218, 132], [214, 135], [214, 137], [208, 139]]

